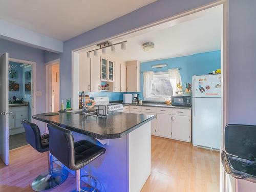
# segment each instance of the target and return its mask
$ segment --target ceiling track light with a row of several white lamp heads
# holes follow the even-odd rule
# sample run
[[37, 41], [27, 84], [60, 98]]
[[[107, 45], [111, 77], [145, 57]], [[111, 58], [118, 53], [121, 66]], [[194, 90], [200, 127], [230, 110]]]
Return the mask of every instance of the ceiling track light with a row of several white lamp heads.
[[102, 49], [102, 54], [106, 54], [106, 48], [108, 48], [108, 47], [111, 47], [111, 51], [114, 53], [114, 52], [116, 52], [116, 45], [119, 45], [119, 44], [121, 44], [121, 49], [125, 50], [126, 49], [126, 42], [127, 42], [127, 40], [117, 42], [116, 44], [112, 44], [112, 42], [110, 42], [110, 41], [101, 42], [101, 44], [97, 45], [100, 48], [87, 52], [87, 57], [90, 58], [90, 56], [91, 56], [90, 53], [93, 52], [93, 51], [94, 51], [94, 56], [97, 57], [98, 56], [98, 50], [100, 50], [100, 49]]

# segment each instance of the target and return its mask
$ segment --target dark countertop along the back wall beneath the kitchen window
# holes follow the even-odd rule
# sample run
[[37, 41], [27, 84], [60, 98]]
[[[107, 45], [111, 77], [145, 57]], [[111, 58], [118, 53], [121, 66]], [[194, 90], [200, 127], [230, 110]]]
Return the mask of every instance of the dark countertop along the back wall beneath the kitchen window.
[[[122, 103], [122, 101], [111, 101], [111, 103]], [[173, 106], [163, 102], [148, 102], [144, 101], [142, 104], [136, 103], [122, 103], [123, 106], [134, 105], [134, 106], [155, 106], [159, 108], [174, 108], [174, 109], [191, 109], [191, 106]]]

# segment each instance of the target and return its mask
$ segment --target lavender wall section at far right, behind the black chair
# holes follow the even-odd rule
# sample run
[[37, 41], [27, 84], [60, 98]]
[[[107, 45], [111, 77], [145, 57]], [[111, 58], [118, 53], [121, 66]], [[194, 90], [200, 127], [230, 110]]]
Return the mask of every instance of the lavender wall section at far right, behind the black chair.
[[[229, 1], [229, 121], [256, 125], [256, 1]], [[256, 184], [238, 180], [238, 190]]]

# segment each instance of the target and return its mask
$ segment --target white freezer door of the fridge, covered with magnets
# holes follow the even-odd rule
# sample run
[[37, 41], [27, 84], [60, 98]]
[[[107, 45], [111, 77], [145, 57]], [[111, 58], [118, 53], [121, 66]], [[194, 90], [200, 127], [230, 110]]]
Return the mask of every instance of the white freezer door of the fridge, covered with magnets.
[[221, 97], [221, 75], [193, 76], [193, 97]]

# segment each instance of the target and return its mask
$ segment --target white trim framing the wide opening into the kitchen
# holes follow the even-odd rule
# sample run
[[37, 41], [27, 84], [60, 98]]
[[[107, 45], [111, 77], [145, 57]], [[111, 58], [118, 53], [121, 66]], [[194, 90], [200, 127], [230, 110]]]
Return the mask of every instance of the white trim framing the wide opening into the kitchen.
[[[216, 7], [218, 5], [223, 5], [223, 25], [222, 25], [222, 45], [221, 45], [221, 69], [222, 69], [222, 73], [221, 73], [221, 77], [222, 77], [222, 82], [223, 82], [223, 86], [222, 86], [222, 141], [221, 141], [221, 150], [224, 148], [224, 130], [225, 130], [225, 126], [228, 124], [229, 122], [229, 105], [228, 105], [228, 93], [229, 93], [229, 62], [228, 62], [228, 54], [229, 54], [229, 36], [228, 36], [228, 32], [229, 32], [229, 20], [228, 20], [228, 0], [217, 0], [213, 3], [209, 3], [203, 6], [200, 6], [198, 8], [195, 9], [191, 9], [185, 12], [182, 12], [180, 14], [174, 15], [174, 16], [170, 16], [164, 19], [160, 19], [157, 22], [153, 22], [151, 24], [148, 25], [144, 25], [138, 28], [135, 28], [133, 30], [129, 30], [108, 38], [104, 38], [104, 39], [100, 39], [98, 41], [92, 42], [91, 44], [87, 45], [87, 46], [83, 46], [77, 49], [74, 49], [71, 51], [71, 62], [72, 62], [72, 94], [71, 94], [71, 100], [73, 101], [72, 103], [74, 103], [74, 98], [76, 97], [76, 89], [74, 88], [74, 82], [77, 81], [77, 79], [75, 78], [74, 73], [76, 72], [77, 66], [75, 66], [75, 64], [77, 63], [77, 51], [82, 50], [82, 49], [88, 49], [92, 46], [95, 46], [103, 41], [112, 41], [116, 38], [119, 37], [123, 37], [125, 35], [129, 35], [138, 31], [141, 31], [143, 29], [148, 29], [166, 22], [170, 22], [174, 19], [178, 19], [193, 13], [197, 13], [212, 7]], [[221, 161], [221, 159], [220, 159]], [[235, 191], [235, 181], [231, 176], [227, 176], [227, 174], [225, 173], [222, 164], [220, 164], [220, 191], [221, 192], [231, 192], [231, 191]]]

